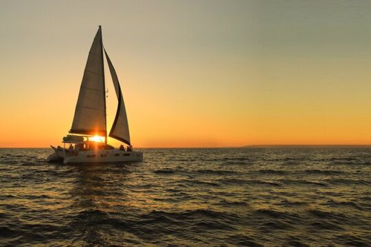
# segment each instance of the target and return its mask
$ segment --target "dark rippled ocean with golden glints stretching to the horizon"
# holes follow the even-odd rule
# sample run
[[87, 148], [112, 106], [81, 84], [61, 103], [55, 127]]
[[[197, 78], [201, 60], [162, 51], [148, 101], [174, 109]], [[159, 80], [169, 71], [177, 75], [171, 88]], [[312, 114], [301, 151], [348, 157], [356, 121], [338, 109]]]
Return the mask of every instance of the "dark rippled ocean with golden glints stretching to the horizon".
[[371, 148], [0, 149], [1, 246], [370, 246]]

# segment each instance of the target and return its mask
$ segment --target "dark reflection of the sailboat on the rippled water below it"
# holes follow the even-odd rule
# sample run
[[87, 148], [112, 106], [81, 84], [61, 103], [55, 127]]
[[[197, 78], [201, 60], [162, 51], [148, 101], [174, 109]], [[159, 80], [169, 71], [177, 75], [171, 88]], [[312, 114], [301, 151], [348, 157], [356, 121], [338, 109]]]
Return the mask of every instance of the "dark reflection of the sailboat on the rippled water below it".
[[[71, 205], [76, 211], [76, 217], [71, 221], [71, 228], [76, 237], [86, 244], [110, 244], [109, 232], [107, 233], [104, 222], [110, 215], [122, 210], [122, 203], [126, 201], [125, 193], [120, 188], [125, 186], [128, 170], [126, 165], [120, 165], [112, 173], [110, 167], [115, 164], [76, 165], [74, 168], [78, 176], [71, 189]], [[120, 195], [120, 198], [117, 196]], [[121, 207], [121, 209], [120, 209]], [[106, 222], [109, 223], [109, 222]]]

